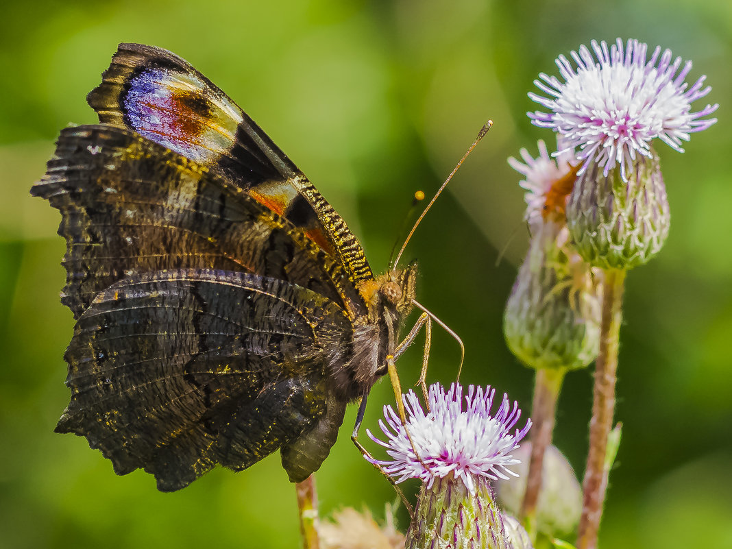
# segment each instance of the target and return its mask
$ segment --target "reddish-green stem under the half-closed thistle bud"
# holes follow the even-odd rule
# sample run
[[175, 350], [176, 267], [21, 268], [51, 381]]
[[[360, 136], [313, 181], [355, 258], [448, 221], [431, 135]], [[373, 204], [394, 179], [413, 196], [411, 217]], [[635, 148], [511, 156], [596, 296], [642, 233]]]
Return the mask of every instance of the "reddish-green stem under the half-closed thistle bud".
[[541, 368], [537, 370], [534, 381], [534, 403], [531, 408], [531, 422], [534, 424], [531, 427], [531, 460], [529, 461], [529, 476], [526, 477], [526, 493], [523, 495], [520, 512], [532, 541], [536, 534], [534, 524], [539, 489], [542, 486], [544, 454], [551, 444], [556, 401], [559, 398], [559, 390], [566, 372], [567, 370], [564, 368]]

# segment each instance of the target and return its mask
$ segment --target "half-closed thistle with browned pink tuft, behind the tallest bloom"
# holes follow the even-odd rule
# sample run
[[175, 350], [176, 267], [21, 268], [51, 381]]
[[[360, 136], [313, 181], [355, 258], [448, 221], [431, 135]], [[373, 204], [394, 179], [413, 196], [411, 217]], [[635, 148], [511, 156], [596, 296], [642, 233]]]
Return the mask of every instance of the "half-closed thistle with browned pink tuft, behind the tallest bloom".
[[567, 152], [557, 162], [543, 141], [538, 146], [537, 158], [526, 149], [520, 151], [523, 163], [509, 158], [526, 177], [519, 184], [528, 190], [525, 217], [532, 234], [506, 305], [504, 335], [526, 366], [572, 370], [597, 356], [602, 288], [568, 242], [564, 209], [575, 184], [572, 160], [578, 162]]

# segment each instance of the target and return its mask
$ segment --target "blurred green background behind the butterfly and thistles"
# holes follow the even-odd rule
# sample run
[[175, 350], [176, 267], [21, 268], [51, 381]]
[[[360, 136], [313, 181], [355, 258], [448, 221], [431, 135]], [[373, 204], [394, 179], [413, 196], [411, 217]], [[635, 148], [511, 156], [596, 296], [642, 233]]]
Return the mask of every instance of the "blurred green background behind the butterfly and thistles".
[[[695, 109], [721, 107], [720, 122], [692, 135], [685, 154], [658, 146], [672, 229], [660, 256], [627, 280], [624, 438], [602, 548], [732, 548], [728, 1], [47, 0], [5, 4], [1, 18], [1, 548], [300, 543], [294, 489], [277, 455], [163, 494], [141, 471], [116, 477], [83, 438], [52, 432], [69, 398], [61, 356], [72, 317], [59, 304], [59, 214], [29, 187], [61, 127], [95, 122], [85, 96], [117, 42], [170, 49], [227, 91], [348, 221], [376, 271], [412, 193], [430, 195], [493, 119], [407, 256], [420, 261], [420, 301], [466, 343], [463, 381], [493, 384], [528, 411], [532, 374], [501, 335], [527, 244], [519, 176], [506, 158], [553, 139], [526, 118], [537, 74], [556, 74], [559, 53], [618, 36], [692, 59], [690, 81], [706, 74], [713, 87]], [[417, 346], [400, 360], [405, 384], [417, 379], [420, 356]], [[458, 359], [436, 329], [430, 381], [449, 383]], [[376, 427], [390, 390], [386, 382], [374, 389], [366, 427]], [[590, 405], [591, 371], [571, 373], [556, 444], [580, 473]], [[318, 473], [321, 511], [366, 505], [381, 517], [395, 496], [348, 440], [354, 414]]]

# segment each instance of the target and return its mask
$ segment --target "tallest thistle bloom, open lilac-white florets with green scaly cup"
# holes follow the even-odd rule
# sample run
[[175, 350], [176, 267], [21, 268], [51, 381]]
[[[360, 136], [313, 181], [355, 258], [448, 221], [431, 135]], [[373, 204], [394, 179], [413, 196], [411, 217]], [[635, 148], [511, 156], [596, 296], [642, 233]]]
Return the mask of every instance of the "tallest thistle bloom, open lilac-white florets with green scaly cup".
[[559, 134], [564, 150], [577, 150], [582, 163], [567, 203], [567, 226], [578, 253], [602, 269], [630, 269], [658, 253], [671, 215], [658, 157], [660, 138], [683, 152], [690, 133], [706, 130], [718, 105], [692, 112], [691, 103], [709, 94], [698, 78], [684, 82], [691, 61], [681, 67], [670, 50], [620, 39], [610, 48], [591, 42], [556, 61], [564, 81], [539, 75], [537, 87], [549, 97], [529, 97], [552, 112], [529, 113], [539, 127]]

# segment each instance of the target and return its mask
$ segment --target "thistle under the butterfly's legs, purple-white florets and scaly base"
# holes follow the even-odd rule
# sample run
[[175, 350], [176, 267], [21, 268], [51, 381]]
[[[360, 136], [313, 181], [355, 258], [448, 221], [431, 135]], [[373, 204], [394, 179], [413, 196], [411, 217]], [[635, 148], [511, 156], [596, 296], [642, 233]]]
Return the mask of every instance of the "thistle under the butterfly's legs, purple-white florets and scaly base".
[[404, 395], [406, 430], [396, 411], [384, 406], [379, 425], [386, 442], [367, 431], [392, 458], [372, 459], [372, 463], [396, 482], [408, 478], [423, 482], [407, 532], [407, 549], [514, 547], [489, 480], [515, 477], [509, 466], [518, 461], [511, 452], [518, 449], [531, 420], [511, 433], [521, 414], [518, 403], [511, 406], [504, 395], [496, 414], [491, 415], [495, 394], [496, 389], [471, 385], [463, 407], [462, 386], [452, 384], [446, 394], [434, 384], [426, 413], [414, 392]]

